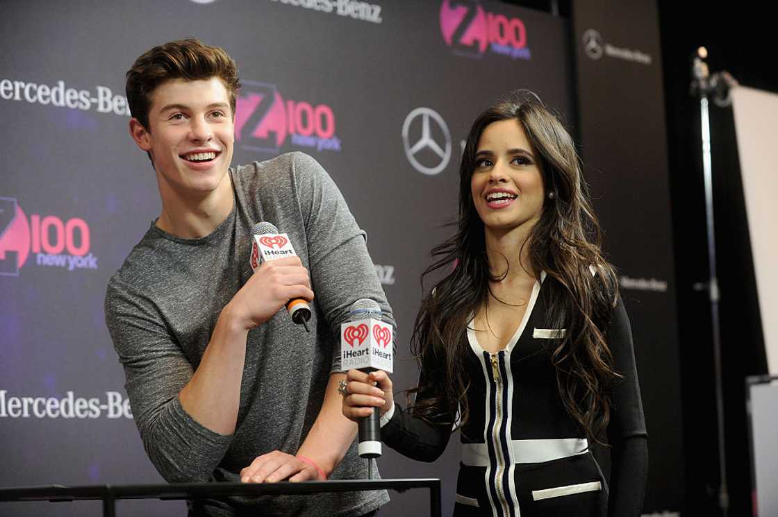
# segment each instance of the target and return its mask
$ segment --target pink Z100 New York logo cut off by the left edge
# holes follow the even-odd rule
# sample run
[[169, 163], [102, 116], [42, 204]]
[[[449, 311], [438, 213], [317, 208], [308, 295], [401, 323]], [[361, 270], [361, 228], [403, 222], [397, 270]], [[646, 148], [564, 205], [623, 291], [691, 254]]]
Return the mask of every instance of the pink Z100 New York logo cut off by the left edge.
[[40, 214], [27, 218], [16, 199], [0, 197], [0, 275], [19, 276], [30, 253], [35, 253], [38, 266], [97, 269], [89, 246], [89, 225], [82, 218], [63, 221]]

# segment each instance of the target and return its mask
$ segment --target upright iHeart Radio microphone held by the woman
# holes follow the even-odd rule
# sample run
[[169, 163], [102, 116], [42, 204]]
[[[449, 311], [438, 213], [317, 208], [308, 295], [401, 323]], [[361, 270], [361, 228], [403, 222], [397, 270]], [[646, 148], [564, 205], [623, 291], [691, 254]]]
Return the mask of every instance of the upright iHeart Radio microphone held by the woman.
[[[382, 320], [380, 306], [369, 298], [359, 299], [351, 306], [351, 321], [341, 324], [342, 369], [372, 372], [392, 371], [393, 329]], [[359, 456], [377, 458], [381, 455], [379, 408], [359, 421]]]

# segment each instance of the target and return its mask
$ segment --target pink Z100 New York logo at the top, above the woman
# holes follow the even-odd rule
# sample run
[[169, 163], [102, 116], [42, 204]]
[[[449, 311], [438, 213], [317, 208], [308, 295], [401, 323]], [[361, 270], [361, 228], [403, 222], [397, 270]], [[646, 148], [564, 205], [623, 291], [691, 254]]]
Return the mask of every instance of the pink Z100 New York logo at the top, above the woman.
[[482, 58], [487, 48], [513, 59], [531, 58], [524, 22], [487, 12], [478, 0], [443, 0], [440, 32], [454, 54], [466, 58]]

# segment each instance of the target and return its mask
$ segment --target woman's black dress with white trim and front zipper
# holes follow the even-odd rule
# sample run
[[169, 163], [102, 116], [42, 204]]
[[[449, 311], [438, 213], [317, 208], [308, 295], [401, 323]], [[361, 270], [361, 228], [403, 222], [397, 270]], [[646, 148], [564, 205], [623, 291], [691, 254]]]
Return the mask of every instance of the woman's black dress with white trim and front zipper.
[[[516, 334], [496, 354], [481, 348], [468, 325], [470, 417], [460, 429], [455, 517], [640, 515], [647, 432], [626, 311], [619, 299], [606, 334], [615, 369], [623, 376], [611, 399], [609, 491], [587, 439], [559, 397], [550, 349], [566, 329], [543, 323], [552, 288], [560, 288], [558, 282], [541, 274]], [[391, 417], [382, 420], [384, 442], [422, 461], [440, 456], [451, 433], [450, 424], [429, 424], [396, 403]]]

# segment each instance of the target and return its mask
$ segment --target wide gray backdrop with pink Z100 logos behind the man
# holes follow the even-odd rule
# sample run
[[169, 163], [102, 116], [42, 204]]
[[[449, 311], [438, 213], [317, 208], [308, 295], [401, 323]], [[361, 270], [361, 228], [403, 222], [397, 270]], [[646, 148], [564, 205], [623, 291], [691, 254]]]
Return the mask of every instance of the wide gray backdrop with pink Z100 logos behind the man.
[[[224, 47], [244, 85], [233, 163], [302, 151], [328, 170], [368, 233], [398, 320], [395, 385], [408, 388], [419, 275], [456, 215], [471, 121], [525, 88], [576, 134], [570, 33], [564, 19], [486, 1], [3, 2], [0, 486], [162, 481], [103, 323], [108, 278], [160, 208], [149, 159], [128, 135], [124, 73], [139, 54], [190, 36]], [[632, 274], [643, 276], [656, 281]], [[633, 319], [636, 347], [661, 317]], [[450, 512], [457, 442], [432, 465], [386, 451], [381, 475], [443, 478]], [[391, 496], [382, 515], [426, 508], [424, 493]], [[121, 501], [120, 511], [170, 515], [184, 505]], [[0, 505], [0, 515], [99, 512], [97, 503]]]

